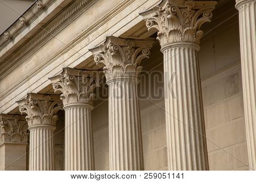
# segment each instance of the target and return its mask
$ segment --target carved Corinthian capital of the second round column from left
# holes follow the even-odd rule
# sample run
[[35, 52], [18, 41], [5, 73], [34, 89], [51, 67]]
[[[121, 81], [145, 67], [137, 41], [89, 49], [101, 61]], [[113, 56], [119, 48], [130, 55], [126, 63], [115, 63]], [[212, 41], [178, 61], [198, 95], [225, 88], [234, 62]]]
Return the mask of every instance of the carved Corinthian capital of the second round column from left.
[[100, 87], [104, 74], [102, 71], [85, 71], [74, 68], [64, 68], [60, 75], [49, 78], [55, 93], [60, 95], [63, 105], [93, 104], [96, 94], [94, 89]]

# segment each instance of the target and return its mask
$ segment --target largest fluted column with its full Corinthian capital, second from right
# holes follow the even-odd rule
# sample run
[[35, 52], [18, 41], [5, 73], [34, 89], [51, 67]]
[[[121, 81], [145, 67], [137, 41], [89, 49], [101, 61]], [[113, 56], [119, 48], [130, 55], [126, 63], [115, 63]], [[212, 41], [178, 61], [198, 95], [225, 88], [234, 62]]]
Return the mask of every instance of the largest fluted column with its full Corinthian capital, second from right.
[[170, 170], [208, 170], [207, 143], [197, 52], [215, 1], [164, 0], [142, 13], [158, 31], [164, 54], [164, 89]]

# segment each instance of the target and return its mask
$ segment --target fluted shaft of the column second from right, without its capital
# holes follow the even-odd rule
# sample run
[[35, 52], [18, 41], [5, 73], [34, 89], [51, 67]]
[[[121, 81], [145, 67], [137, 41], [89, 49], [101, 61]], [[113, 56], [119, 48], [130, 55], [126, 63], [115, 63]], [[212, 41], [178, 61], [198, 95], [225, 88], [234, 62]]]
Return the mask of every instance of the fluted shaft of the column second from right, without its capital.
[[198, 50], [192, 43], [162, 48], [170, 170], [209, 169]]

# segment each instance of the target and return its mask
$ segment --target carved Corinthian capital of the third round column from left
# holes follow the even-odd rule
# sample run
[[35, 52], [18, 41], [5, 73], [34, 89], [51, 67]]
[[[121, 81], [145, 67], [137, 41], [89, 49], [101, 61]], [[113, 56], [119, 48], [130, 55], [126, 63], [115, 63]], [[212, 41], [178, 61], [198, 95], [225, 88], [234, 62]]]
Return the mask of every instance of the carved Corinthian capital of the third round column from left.
[[104, 66], [106, 79], [137, 77], [141, 61], [150, 56], [152, 41], [121, 39], [110, 36], [99, 47], [90, 49], [96, 64]]

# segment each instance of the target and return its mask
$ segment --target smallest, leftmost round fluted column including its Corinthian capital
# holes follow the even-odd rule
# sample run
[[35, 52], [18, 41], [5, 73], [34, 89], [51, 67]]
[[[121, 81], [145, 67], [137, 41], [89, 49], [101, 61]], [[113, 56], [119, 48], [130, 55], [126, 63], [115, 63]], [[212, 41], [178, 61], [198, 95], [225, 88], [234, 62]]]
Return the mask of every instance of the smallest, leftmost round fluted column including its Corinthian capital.
[[20, 112], [26, 113], [30, 130], [30, 171], [53, 171], [55, 169], [53, 134], [57, 111], [62, 109], [59, 96], [28, 94], [18, 101]]

